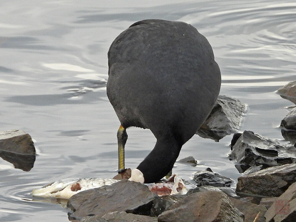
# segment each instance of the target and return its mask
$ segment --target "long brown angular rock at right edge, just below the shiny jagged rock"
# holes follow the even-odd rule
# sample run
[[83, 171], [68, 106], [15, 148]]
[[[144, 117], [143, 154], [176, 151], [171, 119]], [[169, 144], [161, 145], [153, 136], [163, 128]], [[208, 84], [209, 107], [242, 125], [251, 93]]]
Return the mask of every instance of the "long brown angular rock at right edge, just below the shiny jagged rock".
[[237, 179], [237, 194], [278, 197], [296, 181], [296, 164], [269, 167]]

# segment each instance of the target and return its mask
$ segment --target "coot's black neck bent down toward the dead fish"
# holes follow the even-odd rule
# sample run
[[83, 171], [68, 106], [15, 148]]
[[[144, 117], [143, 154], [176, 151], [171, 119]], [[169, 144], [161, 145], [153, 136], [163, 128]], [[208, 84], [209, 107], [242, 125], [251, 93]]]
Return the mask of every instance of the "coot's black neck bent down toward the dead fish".
[[171, 133], [157, 136], [154, 149], [137, 167], [143, 173], [145, 183], [157, 182], [166, 176], [173, 168], [181, 147], [181, 143]]

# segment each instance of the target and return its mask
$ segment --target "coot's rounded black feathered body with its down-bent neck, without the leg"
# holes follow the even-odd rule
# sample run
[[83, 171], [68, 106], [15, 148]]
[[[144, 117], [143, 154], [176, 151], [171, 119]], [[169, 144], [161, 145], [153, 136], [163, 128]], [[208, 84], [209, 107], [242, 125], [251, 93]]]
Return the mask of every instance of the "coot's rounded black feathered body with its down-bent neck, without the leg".
[[137, 168], [145, 183], [158, 181], [218, 97], [221, 74], [213, 50], [187, 23], [143, 20], [113, 41], [108, 59], [107, 96], [121, 126], [149, 128], [157, 139]]

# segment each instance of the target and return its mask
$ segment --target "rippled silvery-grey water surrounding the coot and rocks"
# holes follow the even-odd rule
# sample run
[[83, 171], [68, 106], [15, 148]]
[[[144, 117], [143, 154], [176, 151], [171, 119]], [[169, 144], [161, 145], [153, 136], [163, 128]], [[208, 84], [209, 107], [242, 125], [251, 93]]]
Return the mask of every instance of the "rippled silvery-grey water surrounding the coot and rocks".
[[[106, 96], [107, 51], [133, 22], [157, 18], [192, 24], [213, 47], [221, 93], [248, 104], [241, 130], [283, 139], [279, 124], [293, 104], [274, 91], [295, 81], [295, 1], [1, 1], [0, 131], [25, 130], [37, 149], [25, 172], [0, 159], [0, 221], [68, 221], [60, 205], [30, 201], [32, 189], [66, 178], [110, 178], [117, 169], [119, 121]], [[128, 129], [126, 166], [154, 147], [149, 130]], [[175, 164], [237, 180], [227, 158], [231, 135], [195, 135]]]

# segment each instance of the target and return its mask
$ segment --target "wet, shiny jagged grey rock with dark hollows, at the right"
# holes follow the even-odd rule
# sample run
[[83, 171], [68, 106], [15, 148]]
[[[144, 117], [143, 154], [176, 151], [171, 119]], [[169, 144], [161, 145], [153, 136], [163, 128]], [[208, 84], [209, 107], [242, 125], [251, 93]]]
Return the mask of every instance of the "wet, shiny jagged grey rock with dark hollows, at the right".
[[252, 131], [244, 131], [232, 146], [229, 157], [231, 160], [237, 160], [241, 164], [239, 168], [244, 172], [251, 166], [262, 165], [263, 168], [267, 168], [296, 163], [296, 149], [292, 144], [267, 139]]

